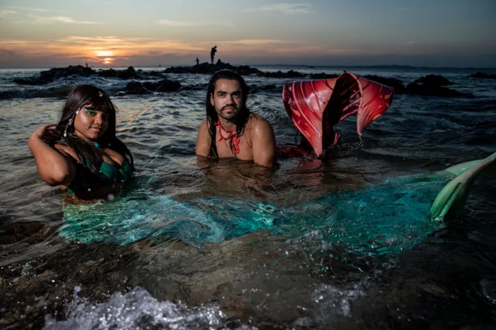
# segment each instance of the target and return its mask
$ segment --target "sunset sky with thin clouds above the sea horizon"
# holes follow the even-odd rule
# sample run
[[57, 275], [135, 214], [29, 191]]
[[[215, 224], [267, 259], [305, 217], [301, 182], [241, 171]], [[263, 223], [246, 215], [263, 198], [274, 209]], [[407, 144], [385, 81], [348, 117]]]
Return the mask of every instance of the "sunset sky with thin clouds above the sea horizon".
[[0, 68], [496, 67], [496, 0], [0, 0]]

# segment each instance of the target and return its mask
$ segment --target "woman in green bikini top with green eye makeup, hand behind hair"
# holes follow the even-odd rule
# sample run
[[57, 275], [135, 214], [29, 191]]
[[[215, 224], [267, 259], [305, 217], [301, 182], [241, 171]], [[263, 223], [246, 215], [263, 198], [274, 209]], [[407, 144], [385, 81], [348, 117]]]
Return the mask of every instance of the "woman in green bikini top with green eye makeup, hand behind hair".
[[126, 144], [115, 136], [115, 121], [115, 106], [106, 92], [92, 85], [74, 88], [59, 123], [43, 125], [29, 137], [38, 175], [79, 199], [119, 192], [134, 163]]

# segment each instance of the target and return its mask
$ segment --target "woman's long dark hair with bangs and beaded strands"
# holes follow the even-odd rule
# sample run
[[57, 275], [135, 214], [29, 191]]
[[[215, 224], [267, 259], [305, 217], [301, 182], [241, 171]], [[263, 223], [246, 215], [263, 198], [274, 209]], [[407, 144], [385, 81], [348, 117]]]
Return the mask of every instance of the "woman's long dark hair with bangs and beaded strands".
[[[110, 101], [108, 94], [96, 86], [76, 86], [64, 103], [62, 115], [60, 116], [57, 127], [54, 129], [47, 129], [41, 139], [49, 145], [62, 144], [71, 147], [74, 149], [76, 155], [78, 155], [82, 166], [91, 170], [91, 173], [94, 175], [98, 175], [99, 168], [103, 162], [102, 154], [99, 153], [95, 145], [86, 142], [74, 134], [75, 112], [88, 104], [91, 104], [91, 108], [94, 110], [109, 114], [107, 129], [98, 139], [98, 144], [101, 147], [110, 147], [112, 150], [123, 155], [130, 164], [132, 170], [134, 170], [134, 160], [131, 152], [128, 147], [126, 147], [126, 144], [115, 136], [116, 107], [112, 101]], [[69, 121], [71, 121], [70, 125]], [[67, 136], [64, 136], [64, 133], [67, 133]]]

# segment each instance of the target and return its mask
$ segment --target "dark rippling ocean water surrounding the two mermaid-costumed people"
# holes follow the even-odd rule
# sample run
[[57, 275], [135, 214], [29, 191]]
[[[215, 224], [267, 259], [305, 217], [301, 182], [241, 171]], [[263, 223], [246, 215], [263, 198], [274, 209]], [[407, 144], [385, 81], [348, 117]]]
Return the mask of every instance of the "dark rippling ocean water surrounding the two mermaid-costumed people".
[[[233, 160], [202, 169], [204, 90], [124, 95], [129, 81], [101, 77], [19, 86], [12, 79], [43, 70], [0, 70], [2, 329], [494, 327], [494, 166], [458, 218], [438, 223], [428, 211], [450, 179], [441, 170], [495, 151], [496, 80], [467, 77], [475, 69], [259, 68], [346, 69], [405, 85], [435, 73], [475, 98], [397, 94], [362, 141], [354, 118], [340, 123], [329, 160], [281, 160], [274, 173]], [[278, 142], [294, 143], [281, 101], [290, 79], [246, 80], [278, 86], [248, 105]], [[65, 90], [82, 83], [114, 95], [137, 175], [113, 201], [62, 206], [27, 138], [56, 122]]]

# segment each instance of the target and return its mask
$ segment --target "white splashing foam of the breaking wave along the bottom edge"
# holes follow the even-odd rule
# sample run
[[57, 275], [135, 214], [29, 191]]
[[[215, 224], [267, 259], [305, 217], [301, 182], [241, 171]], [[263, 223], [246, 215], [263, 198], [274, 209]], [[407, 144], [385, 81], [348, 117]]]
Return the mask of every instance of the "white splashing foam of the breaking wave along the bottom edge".
[[[137, 287], [126, 294], [116, 292], [99, 304], [80, 299], [76, 294], [67, 320], [57, 321], [47, 315], [43, 329], [226, 329], [226, 321], [215, 303], [188, 308], [181, 303], [157, 301], [149, 292]], [[237, 329], [257, 328], [242, 325]]]

